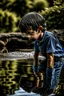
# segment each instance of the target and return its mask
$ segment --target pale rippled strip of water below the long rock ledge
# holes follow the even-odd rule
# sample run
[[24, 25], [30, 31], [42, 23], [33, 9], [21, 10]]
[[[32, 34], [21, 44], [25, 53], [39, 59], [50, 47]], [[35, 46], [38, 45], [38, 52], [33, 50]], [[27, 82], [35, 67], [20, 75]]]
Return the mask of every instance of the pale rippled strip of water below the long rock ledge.
[[[34, 52], [8, 52], [0, 54], [0, 60], [21, 60], [34, 59]], [[39, 56], [39, 60], [45, 60], [44, 56]]]

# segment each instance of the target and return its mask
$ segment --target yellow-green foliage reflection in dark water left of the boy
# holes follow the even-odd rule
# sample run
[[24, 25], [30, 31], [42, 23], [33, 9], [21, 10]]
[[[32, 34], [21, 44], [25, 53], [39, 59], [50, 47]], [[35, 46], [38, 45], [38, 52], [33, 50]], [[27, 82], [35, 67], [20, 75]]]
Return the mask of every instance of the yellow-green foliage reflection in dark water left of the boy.
[[0, 61], [0, 92], [13, 94], [19, 88], [21, 75], [32, 74], [30, 60]]

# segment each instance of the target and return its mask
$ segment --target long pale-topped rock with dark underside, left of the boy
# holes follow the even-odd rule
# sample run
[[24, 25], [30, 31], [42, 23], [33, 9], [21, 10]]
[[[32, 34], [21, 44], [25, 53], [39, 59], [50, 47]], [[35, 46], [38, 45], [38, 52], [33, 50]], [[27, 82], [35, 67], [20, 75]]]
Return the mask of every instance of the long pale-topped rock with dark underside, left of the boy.
[[[25, 34], [20, 32], [18, 33], [1, 33], [0, 40], [4, 42], [7, 49], [32, 49], [33, 48], [33, 41], [30, 41]], [[5, 42], [7, 41], [7, 42]]]

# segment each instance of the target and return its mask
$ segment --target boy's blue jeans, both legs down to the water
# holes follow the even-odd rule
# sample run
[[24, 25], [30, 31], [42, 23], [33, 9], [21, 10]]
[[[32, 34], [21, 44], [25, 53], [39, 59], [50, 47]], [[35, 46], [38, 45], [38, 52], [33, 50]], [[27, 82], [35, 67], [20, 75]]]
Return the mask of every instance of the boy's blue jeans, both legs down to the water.
[[55, 90], [58, 85], [58, 80], [63, 65], [64, 61], [57, 61], [54, 64], [54, 68], [50, 70], [50, 68], [46, 68], [46, 64], [41, 62], [39, 65], [39, 71], [44, 72], [44, 84], [46, 88]]

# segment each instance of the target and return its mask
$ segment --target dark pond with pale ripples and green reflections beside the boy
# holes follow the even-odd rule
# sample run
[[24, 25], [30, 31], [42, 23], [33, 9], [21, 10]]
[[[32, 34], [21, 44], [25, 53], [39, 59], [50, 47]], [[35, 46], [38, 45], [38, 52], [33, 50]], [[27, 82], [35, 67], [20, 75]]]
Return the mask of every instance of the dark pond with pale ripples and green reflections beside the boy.
[[[42, 57], [41, 59], [44, 59]], [[35, 93], [30, 92], [31, 88], [34, 86], [34, 74], [32, 71], [33, 65], [33, 52], [8, 52], [0, 54], [0, 96], [40, 96]], [[29, 84], [31, 86], [24, 86], [24, 90], [19, 90], [20, 80], [22, 78], [29, 78]], [[26, 83], [25, 79], [24, 82]], [[28, 85], [27, 83], [27, 85]], [[23, 84], [23, 83], [22, 83]], [[17, 93], [19, 92], [19, 93]], [[16, 94], [15, 94], [16, 93]]]

